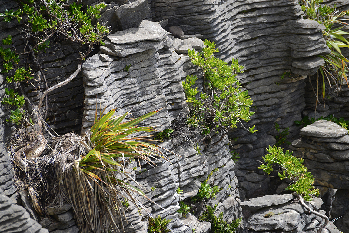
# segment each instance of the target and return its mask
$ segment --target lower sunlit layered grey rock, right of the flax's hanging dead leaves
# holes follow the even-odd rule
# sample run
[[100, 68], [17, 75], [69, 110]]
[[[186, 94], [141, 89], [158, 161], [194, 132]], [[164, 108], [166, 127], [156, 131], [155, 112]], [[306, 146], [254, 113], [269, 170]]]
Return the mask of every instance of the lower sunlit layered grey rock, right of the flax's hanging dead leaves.
[[[196, 232], [205, 232], [207, 223], [198, 222], [192, 215], [181, 217], [176, 211], [179, 210], [181, 201], [187, 203], [192, 211], [202, 209], [203, 206], [190, 201], [190, 197], [198, 193], [201, 182], [211, 174], [207, 183], [217, 185], [221, 190], [216, 194], [215, 200], [210, 201], [213, 204], [218, 203], [217, 213], [223, 212], [227, 221], [242, 217], [237, 191], [238, 182], [233, 171], [235, 164], [230, 159], [227, 143], [228, 138], [226, 136], [222, 138], [222, 135], [218, 134], [213, 136], [209, 145], [200, 146], [202, 149], [205, 148], [205, 152], [195, 150], [192, 144], [177, 145], [171, 150], [181, 157], [172, 154], [168, 155], [167, 160], [156, 161], [156, 167], [142, 166], [142, 173], [136, 171], [136, 180], [148, 190], [144, 193], [153, 202], [146, 198], [139, 200], [154, 216], [173, 219], [168, 225], [173, 232], [190, 232], [192, 228], [196, 229]], [[171, 141], [167, 142], [167, 146], [169, 145]], [[218, 168], [218, 171], [212, 173], [215, 168]], [[178, 188], [183, 193], [178, 194], [176, 191]], [[134, 230], [144, 231], [146, 224], [141, 218], [134, 220]]]

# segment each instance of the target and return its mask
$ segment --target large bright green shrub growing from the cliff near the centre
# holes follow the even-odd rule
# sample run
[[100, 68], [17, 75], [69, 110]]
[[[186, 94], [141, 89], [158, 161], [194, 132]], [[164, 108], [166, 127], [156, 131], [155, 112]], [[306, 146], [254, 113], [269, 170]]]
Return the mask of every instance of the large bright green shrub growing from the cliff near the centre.
[[[188, 75], [182, 84], [190, 109], [188, 124], [201, 127], [207, 135], [218, 128], [235, 128], [240, 120], [248, 122], [254, 112], [250, 112], [253, 101], [248, 91], [240, 89], [236, 78], [238, 73], [243, 72], [243, 67], [237, 60], [232, 60], [232, 65], [228, 66], [227, 62], [215, 58], [214, 53], [218, 49], [215, 49], [214, 42], [205, 40], [204, 45], [201, 52], [195, 49], [188, 51], [192, 63], [204, 73], [203, 91], [193, 88], [198, 79], [196, 76]], [[254, 126], [250, 128], [252, 133], [257, 131], [253, 129]]]

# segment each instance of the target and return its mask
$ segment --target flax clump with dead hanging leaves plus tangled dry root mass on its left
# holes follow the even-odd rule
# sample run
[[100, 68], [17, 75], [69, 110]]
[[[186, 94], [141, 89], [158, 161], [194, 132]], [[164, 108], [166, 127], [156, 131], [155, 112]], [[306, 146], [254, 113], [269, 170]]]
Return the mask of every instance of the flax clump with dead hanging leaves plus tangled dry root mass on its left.
[[122, 221], [127, 222], [122, 203], [131, 202], [141, 215], [142, 210], [150, 214], [137, 198], [148, 197], [127, 165], [144, 160], [153, 166], [153, 161], [164, 158], [165, 149], [145, 142], [154, 141], [150, 136], [132, 136], [155, 131], [137, 124], [157, 112], [125, 120], [128, 113], [115, 117], [115, 110], [104, 116], [102, 111], [97, 117], [96, 110], [94, 125], [83, 137], [75, 133], [54, 137], [49, 155], [27, 160], [24, 171], [17, 167], [17, 183], [22, 180], [22, 188], [38, 190], [34, 196], [41, 200], [37, 202], [39, 214], [41, 206], [45, 209], [68, 202], [81, 232], [119, 232]]

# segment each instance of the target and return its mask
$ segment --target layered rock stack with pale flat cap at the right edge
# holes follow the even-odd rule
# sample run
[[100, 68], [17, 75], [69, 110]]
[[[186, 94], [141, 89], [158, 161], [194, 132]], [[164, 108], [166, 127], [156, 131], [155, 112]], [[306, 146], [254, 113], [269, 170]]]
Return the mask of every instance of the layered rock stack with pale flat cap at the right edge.
[[[308, 171], [315, 178], [321, 195], [327, 189], [335, 189], [334, 202], [329, 214], [339, 218], [336, 226], [349, 231], [349, 136], [348, 131], [334, 122], [319, 120], [300, 130], [302, 138], [292, 142], [294, 156], [304, 159]], [[326, 196], [325, 196], [326, 197]]]

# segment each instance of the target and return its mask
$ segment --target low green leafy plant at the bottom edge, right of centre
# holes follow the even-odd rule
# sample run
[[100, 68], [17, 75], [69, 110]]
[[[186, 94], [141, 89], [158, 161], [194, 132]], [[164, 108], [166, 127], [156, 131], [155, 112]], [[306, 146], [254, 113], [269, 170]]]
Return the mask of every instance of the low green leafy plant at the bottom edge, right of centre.
[[238, 218], [231, 223], [227, 223], [227, 221], [223, 219], [223, 212], [220, 213], [218, 217], [215, 215], [216, 208], [217, 205], [215, 205], [214, 208], [207, 205], [207, 211], [199, 217], [199, 221], [208, 221], [211, 223], [210, 233], [235, 233], [242, 219]]

